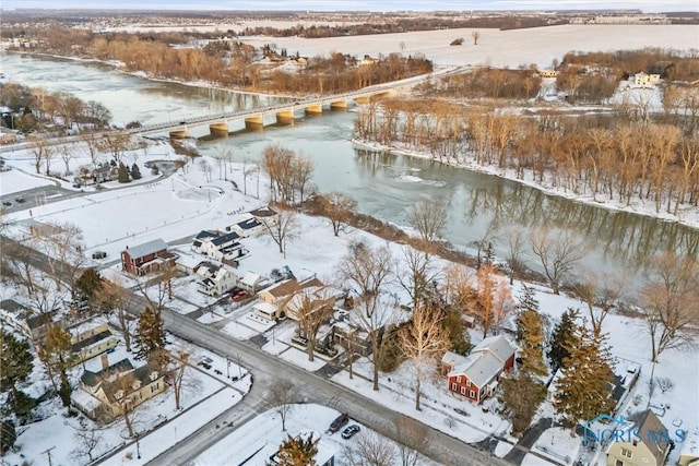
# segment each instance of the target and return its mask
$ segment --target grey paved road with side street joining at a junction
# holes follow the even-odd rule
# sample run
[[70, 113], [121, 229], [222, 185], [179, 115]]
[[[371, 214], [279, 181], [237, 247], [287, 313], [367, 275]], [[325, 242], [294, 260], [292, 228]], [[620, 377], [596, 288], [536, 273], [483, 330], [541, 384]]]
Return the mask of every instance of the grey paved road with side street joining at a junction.
[[[12, 239], [2, 237], [4, 247], [28, 249]], [[33, 266], [50, 273], [47, 258], [39, 251], [31, 250], [28, 261]], [[60, 267], [59, 267], [60, 270]], [[147, 306], [146, 299], [131, 291], [130, 308], [135, 313]], [[233, 360], [244, 361], [244, 365], [253, 377], [253, 384], [244, 397], [244, 402], [236, 407], [223, 413], [214, 421], [199, 429], [194, 434], [181, 440], [178, 444], [164, 452], [151, 462], [152, 465], [186, 464], [203, 453], [208, 447], [223, 439], [230, 430], [215, 429], [216, 420], [223, 425], [224, 420], [233, 422], [236, 428], [250, 420], [261, 410], [272, 408], [268, 403], [266, 386], [274, 383], [280, 377], [295, 383], [299, 403], [316, 403], [333, 407], [347, 413], [364, 426], [372, 429], [387, 438], [399, 441], [395, 433], [394, 421], [403, 415], [387, 408], [374, 399], [357, 394], [343, 385], [339, 385], [312, 372], [307, 372], [283, 359], [259, 349], [250, 342], [240, 342], [226, 334], [178, 314], [169, 309], [163, 309], [165, 328], [174, 335], [191, 342], [193, 345], [205, 348], [217, 355]], [[419, 422], [418, 422], [419, 423]], [[476, 450], [475, 447], [447, 435], [429, 426], [423, 425], [427, 432], [426, 447], [420, 451], [424, 455], [442, 465], [478, 466], [478, 465], [507, 465], [505, 461]], [[324, 430], [327, 426], [319, 426], [318, 430]]]

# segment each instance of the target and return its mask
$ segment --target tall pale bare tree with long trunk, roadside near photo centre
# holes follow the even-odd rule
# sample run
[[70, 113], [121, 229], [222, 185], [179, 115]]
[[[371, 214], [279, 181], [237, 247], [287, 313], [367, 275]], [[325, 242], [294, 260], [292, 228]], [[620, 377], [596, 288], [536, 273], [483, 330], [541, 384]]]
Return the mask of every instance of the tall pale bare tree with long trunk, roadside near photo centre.
[[382, 331], [392, 320], [390, 304], [383, 300], [386, 286], [391, 278], [393, 259], [388, 247], [371, 249], [354, 243], [337, 266], [337, 278], [358, 295], [355, 309], [357, 323], [371, 339], [374, 390], [379, 390], [379, 346]]

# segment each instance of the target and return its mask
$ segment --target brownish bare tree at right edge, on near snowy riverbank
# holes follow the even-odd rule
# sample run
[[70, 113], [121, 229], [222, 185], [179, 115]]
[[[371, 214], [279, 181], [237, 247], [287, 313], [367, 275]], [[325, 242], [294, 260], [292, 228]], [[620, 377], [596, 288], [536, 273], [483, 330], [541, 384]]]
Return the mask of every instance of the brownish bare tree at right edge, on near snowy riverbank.
[[640, 310], [651, 337], [651, 360], [666, 349], [696, 346], [699, 320], [699, 266], [689, 258], [667, 252], [641, 289]]

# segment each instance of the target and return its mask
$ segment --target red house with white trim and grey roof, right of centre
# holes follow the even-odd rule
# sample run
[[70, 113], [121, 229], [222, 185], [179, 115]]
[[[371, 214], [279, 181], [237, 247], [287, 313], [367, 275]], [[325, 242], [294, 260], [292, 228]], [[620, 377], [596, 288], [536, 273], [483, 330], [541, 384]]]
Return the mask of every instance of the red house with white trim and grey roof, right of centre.
[[485, 338], [469, 356], [442, 358], [450, 392], [481, 403], [493, 394], [500, 374], [514, 366], [514, 347], [501, 335]]

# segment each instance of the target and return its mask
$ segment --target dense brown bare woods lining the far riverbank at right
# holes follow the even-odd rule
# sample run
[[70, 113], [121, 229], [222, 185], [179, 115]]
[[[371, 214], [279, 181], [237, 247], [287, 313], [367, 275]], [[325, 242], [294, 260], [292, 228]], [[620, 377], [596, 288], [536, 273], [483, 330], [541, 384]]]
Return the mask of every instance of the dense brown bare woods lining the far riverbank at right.
[[[696, 104], [699, 104], [697, 99]], [[355, 136], [424, 151], [446, 163], [513, 169], [518, 179], [578, 195], [651, 202], [677, 214], [699, 202], [697, 119], [657, 121], [629, 105], [613, 119], [599, 116], [520, 117], [445, 100], [383, 100], [363, 106]], [[692, 112], [696, 110], [692, 110]], [[667, 118], [665, 118], [667, 117]], [[674, 117], [673, 117], [674, 118]], [[672, 120], [671, 120], [672, 121]]]

